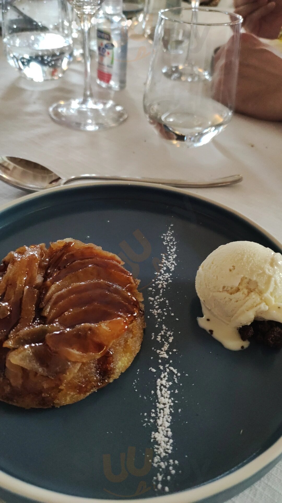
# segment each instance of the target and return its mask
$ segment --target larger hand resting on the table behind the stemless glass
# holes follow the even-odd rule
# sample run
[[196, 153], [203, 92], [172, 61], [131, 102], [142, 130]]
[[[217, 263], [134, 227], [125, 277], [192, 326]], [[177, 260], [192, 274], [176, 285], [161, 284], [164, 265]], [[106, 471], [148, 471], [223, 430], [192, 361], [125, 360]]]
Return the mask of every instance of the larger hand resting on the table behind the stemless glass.
[[[228, 104], [225, 90], [229, 71], [226, 52], [231, 39], [215, 55], [214, 99]], [[227, 63], [223, 64], [223, 61]], [[241, 35], [235, 111], [257, 119], [282, 121], [282, 58], [270, 46], [248, 33]]]

